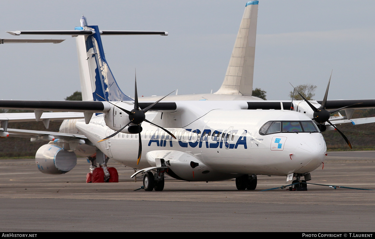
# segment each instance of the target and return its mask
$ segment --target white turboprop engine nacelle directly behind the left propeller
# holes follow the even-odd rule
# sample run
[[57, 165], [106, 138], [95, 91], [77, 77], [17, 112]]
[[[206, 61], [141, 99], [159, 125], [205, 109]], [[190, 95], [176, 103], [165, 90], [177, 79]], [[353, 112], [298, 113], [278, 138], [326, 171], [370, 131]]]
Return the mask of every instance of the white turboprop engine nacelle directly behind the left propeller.
[[[128, 111], [132, 111], [132, 109], [134, 109], [134, 105], [128, 102], [117, 102], [114, 104]], [[118, 131], [124, 125], [129, 124], [130, 119], [129, 115], [126, 114], [126, 112], [122, 111], [116, 106], [111, 105], [111, 109], [107, 113], [104, 113], [104, 121], [105, 124], [112, 130]], [[135, 124], [130, 124], [123, 130], [121, 130], [121, 133], [135, 134], [139, 132], [138, 127], [136, 127]]]

